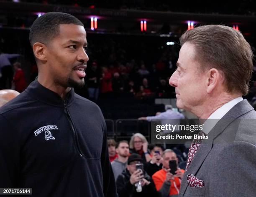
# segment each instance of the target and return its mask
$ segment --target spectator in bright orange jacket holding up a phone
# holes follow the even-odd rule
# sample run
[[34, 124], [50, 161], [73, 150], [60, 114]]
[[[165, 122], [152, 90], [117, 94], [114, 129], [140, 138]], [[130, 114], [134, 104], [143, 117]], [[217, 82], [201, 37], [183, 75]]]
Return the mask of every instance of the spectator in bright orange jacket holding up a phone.
[[156, 190], [161, 193], [162, 197], [178, 196], [184, 170], [177, 168], [175, 175], [170, 173], [169, 161], [175, 160], [178, 164], [178, 158], [173, 150], [166, 149], [162, 157], [163, 169], [152, 176]]

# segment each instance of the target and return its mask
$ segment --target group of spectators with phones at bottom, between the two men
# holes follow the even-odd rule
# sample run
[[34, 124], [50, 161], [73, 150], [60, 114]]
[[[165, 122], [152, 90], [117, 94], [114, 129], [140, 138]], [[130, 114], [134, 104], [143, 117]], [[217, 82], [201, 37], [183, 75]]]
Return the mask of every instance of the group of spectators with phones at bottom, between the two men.
[[[179, 159], [182, 153], [176, 147], [164, 150], [160, 144], [148, 145], [146, 137], [136, 133], [130, 142], [116, 143], [109, 139], [108, 150], [120, 197], [175, 197], [179, 194], [185, 165], [179, 167], [184, 161]], [[170, 161], [176, 163], [175, 169], [169, 166]], [[138, 164], [143, 164], [142, 171]], [[138, 191], [140, 184], [142, 191]]]

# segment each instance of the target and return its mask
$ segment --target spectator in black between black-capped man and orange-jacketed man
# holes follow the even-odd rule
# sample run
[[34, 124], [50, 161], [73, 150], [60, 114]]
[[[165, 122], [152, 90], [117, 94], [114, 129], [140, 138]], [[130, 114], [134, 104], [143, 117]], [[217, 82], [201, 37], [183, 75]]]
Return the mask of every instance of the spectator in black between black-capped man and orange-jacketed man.
[[163, 166], [162, 160], [161, 160], [162, 153], [163, 153], [163, 148], [161, 147], [161, 145], [153, 145], [153, 148], [150, 150], [152, 159], [150, 162], [147, 162], [144, 165], [144, 168], [149, 176], [152, 177], [152, 175], [154, 175], [155, 172], [162, 169], [162, 166]]

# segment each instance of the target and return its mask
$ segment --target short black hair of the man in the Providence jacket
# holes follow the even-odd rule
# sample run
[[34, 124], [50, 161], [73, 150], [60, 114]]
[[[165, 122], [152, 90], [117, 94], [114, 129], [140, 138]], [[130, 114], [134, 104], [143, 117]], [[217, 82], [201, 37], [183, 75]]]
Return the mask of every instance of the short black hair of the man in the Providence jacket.
[[51, 39], [59, 35], [59, 25], [61, 24], [84, 24], [76, 17], [63, 12], [47, 12], [38, 17], [32, 24], [29, 32], [31, 47], [36, 42], [47, 44]]

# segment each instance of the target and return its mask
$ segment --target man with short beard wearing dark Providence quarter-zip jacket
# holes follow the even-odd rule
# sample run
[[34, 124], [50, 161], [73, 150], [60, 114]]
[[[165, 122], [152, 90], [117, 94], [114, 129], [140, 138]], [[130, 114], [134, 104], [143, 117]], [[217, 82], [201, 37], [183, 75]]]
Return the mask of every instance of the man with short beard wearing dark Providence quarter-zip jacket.
[[117, 197], [102, 112], [72, 88], [84, 85], [89, 60], [82, 22], [49, 12], [33, 22], [29, 39], [38, 78], [0, 108], [0, 188]]

